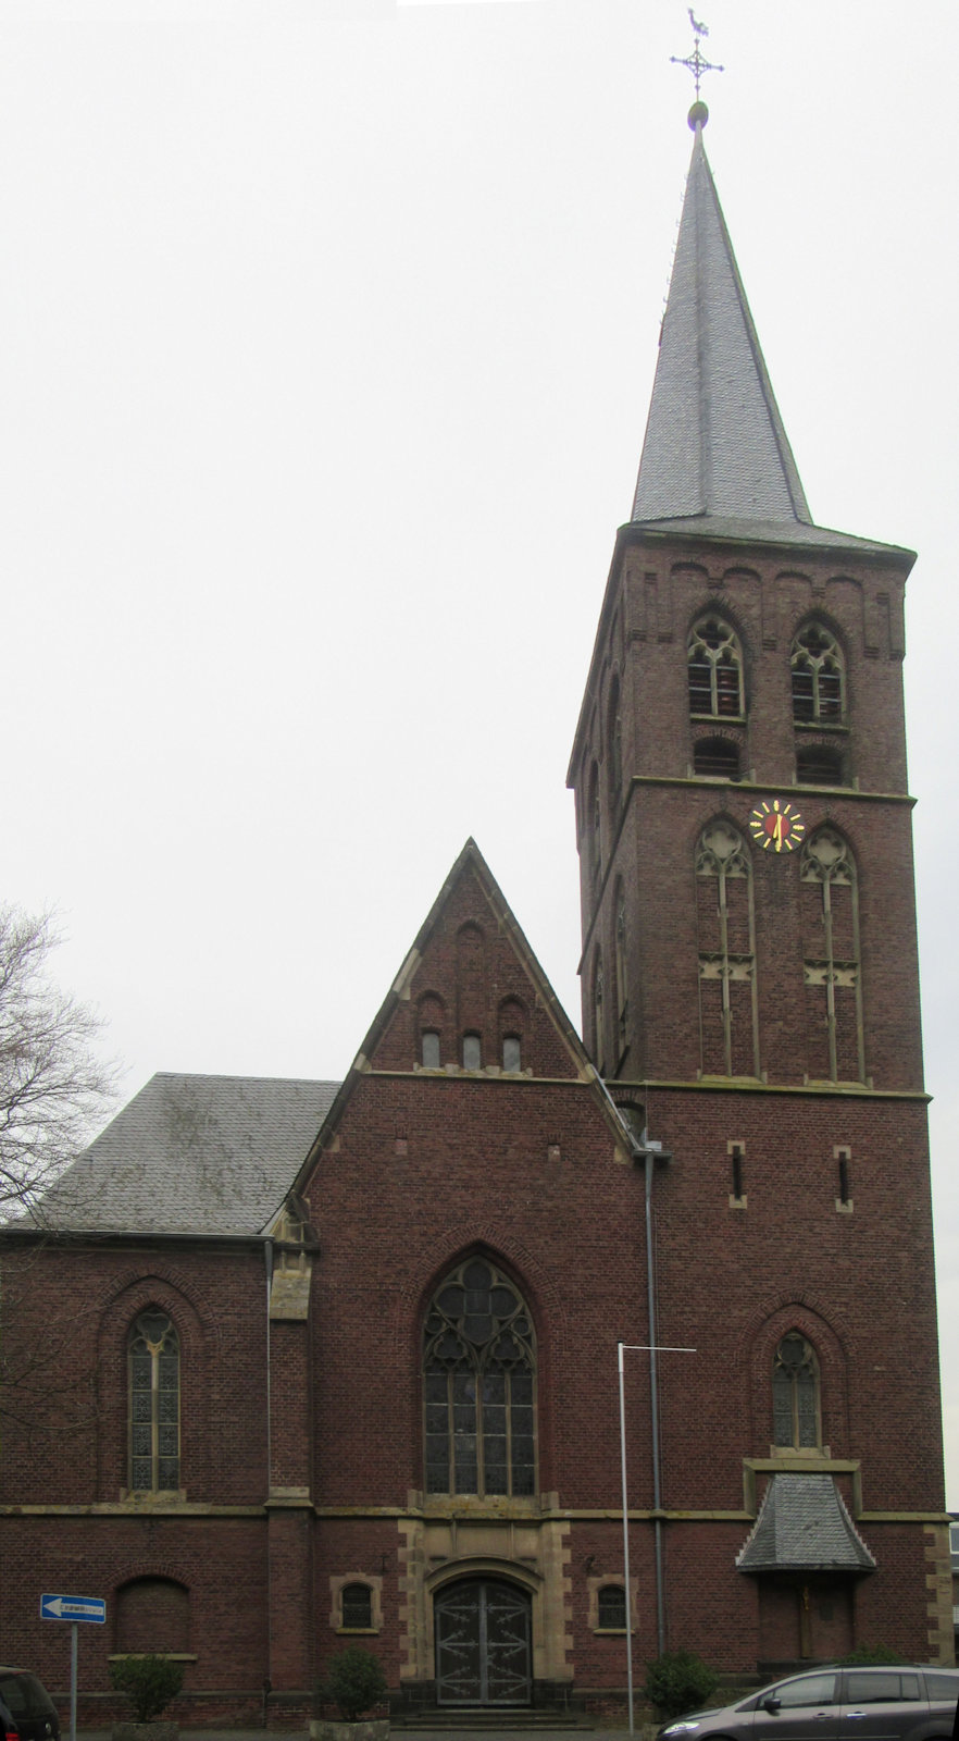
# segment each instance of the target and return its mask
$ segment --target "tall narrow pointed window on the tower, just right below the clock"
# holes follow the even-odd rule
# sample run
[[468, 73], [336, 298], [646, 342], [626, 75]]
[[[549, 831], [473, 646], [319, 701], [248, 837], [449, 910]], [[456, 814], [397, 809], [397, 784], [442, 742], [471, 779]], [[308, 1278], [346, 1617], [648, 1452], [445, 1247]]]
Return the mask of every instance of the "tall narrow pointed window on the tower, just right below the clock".
[[856, 862], [835, 829], [809, 836], [799, 876], [808, 1076], [865, 1081]]

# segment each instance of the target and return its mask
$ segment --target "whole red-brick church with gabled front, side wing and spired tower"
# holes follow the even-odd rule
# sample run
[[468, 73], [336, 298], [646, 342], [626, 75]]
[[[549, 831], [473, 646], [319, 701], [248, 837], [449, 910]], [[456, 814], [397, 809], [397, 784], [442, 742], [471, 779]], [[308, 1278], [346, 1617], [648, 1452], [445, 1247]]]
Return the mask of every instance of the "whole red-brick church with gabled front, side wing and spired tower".
[[954, 1659], [914, 555], [809, 514], [705, 118], [569, 764], [583, 1039], [468, 841], [343, 1083], [155, 1076], [3, 1233], [2, 1652], [64, 1687], [40, 1595], [104, 1596], [87, 1720], [139, 1650], [277, 1725], [352, 1642], [451, 1717], [609, 1708], [627, 1626], [639, 1678]]

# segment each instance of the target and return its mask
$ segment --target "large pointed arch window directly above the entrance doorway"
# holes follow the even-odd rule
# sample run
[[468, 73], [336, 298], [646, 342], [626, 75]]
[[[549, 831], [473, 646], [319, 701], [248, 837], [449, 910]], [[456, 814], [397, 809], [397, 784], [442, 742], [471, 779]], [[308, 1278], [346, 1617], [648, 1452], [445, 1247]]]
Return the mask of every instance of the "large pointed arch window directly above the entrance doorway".
[[426, 1492], [536, 1492], [536, 1339], [513, 1283], [472, 1257], [423, 1330]]

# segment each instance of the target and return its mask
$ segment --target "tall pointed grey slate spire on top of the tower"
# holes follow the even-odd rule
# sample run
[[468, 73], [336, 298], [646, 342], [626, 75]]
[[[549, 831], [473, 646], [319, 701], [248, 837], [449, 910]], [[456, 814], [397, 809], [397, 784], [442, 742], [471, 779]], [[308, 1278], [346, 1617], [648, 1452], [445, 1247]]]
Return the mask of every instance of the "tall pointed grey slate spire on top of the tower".
[[813, 519], [694, 124], [632, 519]]

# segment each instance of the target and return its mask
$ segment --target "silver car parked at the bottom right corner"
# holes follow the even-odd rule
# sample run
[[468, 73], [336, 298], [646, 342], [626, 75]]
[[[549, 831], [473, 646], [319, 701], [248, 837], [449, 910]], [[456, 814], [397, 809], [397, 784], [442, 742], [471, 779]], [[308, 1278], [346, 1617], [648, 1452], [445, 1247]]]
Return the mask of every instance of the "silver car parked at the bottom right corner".
[[959, 1668], [816, 1668], [738, 1704], [689, 1711], [658, 1741], [945, 1741]]

